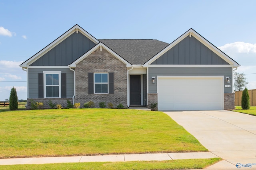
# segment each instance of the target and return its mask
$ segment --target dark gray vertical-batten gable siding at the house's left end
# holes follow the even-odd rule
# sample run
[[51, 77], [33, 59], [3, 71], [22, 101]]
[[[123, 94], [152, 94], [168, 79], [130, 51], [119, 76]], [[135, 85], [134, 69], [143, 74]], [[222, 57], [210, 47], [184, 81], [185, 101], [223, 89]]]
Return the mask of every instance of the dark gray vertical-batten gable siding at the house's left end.
[[74, 32], [31, 66], [67, 66], [96, 44], [78, 31]]

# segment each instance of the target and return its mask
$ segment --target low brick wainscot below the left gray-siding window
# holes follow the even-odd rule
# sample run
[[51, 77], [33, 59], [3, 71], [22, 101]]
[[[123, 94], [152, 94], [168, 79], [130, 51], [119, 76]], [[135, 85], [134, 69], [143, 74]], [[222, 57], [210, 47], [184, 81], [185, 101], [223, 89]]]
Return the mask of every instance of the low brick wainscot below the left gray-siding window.
[[43, 109], [51, 108], [48, 104], [50, 100], [52, 100], [52, 104], [61, 104], [61, 106], [65, 108], [68, 105], [67, 99], [72, 103], [72, 98], [28, 98], [27, 109], [31, 109], [31, 100], [34, 100], [34, 102], [42, 102], [44, 104]]

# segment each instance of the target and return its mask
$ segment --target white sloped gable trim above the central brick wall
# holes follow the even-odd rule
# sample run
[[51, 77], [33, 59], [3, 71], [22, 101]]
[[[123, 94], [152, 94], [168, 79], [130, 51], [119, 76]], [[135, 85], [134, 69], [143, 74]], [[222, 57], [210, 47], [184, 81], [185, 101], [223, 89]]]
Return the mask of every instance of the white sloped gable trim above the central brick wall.
[[131, 67], [132, 65], [130, 63], [128, 63], [126, 60], [124, 60], [122, 57], [120, 57], [118, 54], [116, 54], [114, 51], [112, 51], [110, 48], [108, 48], [106, 45], [104, 45], [103, 43], [98, 43], [96, 46], [94, 46], [92, 49], [90, 49], [87, 53], [85, 53], [84, 55], [82, 55], [80, 58], [78, 58], [76, 61], [74, 61], [73, 63], [71, 63], [70, 66], [71, 68], [75, 68], [76, 64], [80, 63], [80, 61], [82, 61], [83, 59], [85, 59], [86, 57], [88, 57], [91, 53], [93, 53], [96, 49], [98, 49], [100, 46], [102, 46], [104, 49], [106, 49], [106, 51], [108, 51], [109, 53], [111, 53], [112, 55], [114, 55], [117, 59], [119, 59], [120, 61], [122, 61], [122, 63], [126, 64], [126, 67]]

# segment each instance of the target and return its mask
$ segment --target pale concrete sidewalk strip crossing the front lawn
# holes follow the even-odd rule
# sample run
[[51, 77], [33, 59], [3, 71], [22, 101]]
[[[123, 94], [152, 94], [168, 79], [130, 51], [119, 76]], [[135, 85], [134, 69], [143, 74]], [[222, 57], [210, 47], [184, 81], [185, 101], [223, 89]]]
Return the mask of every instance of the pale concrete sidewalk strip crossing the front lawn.
[[0, 159], [0, 165], [14, 164], [52, 164], [74, 162], [127, 162], [136, 160], [176, 160], [176, 159], [201, 159], [216, 158], [211, 152], [186, 152], [186, 153], [155, 153], [155, 154], [118, 154], [99, 156], [66, 156], [44, 158], [8, 158]]

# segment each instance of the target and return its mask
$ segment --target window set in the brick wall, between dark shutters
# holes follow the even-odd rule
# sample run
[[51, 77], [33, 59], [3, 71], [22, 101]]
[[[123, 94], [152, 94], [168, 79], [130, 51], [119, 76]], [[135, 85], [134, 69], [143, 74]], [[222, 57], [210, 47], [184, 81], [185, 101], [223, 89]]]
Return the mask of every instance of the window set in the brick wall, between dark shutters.
[[94, 73], [94, 93], [108, 93], [108, 73]]

